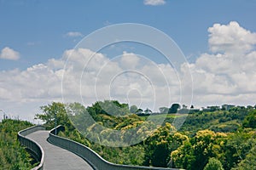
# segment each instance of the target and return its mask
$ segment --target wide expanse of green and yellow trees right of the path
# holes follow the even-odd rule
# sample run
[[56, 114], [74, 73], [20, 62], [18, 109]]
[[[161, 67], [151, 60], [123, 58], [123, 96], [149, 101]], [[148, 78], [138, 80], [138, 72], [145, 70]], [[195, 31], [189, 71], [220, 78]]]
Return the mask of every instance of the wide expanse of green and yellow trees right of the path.
[[[253, 107], [238, 106], [230, 111], [191, 113], [183, 127], [177, 130], [172, 122], [174, 119], [182, 119], [183, 114], [153, 114], [150, 117], [155, 122], [165, 116], [165, 122], [158, 126], [148, 121], [149, 116], [131, 114], [128, 105], [108, 100], [96, 102], [87, 108], [79, 103], [52, 103], [42, 106], [44, 114], [36, 117], [53, 127], [55, 105], [60, 108], [56, 111], [57, 122], [66, 126], [61, 136], [89, 146], [114, 163], [189, 170], [222, 167], [227, 170], [253, 169], [256, 163]], [[177, 105], [173, 107], [177, 108]], [[132, 106], [130, 111], [136, 109], [136, 106]], [[160, 108], [160, 111], [166, 111], [166, 108]], [[80, 129], [87, 131], [84, 133]], [[122, 135], [114, 135], [114, 130], [119, 130]], [[129, 147], [106, 146], [114, 146], [116, 141], [129, 144], [134, 134], [137, 136], [137, 144]]]

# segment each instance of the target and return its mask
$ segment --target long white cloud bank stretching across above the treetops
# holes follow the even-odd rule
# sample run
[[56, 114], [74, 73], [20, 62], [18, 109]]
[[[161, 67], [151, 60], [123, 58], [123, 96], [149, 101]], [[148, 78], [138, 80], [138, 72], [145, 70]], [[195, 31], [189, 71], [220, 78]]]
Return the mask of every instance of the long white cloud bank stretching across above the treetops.
[[[35, 111], [34, 107], [62, 101], [63, 97], [65, 102], [84, 105], [119, 99], [158, 111], [160, 106], [179, 101], [180, 79], [186, 83], [190, 76], [187, 67], [193, 77], [193, 105], [255, 105], [256, 34], [235, 21], [214, 24], [208, 32], [209, 52], [201, 54], [195, 63], [184, 64], [182, 77], [177, 77], [171, 65], [156, 64], [137, 54], [124, 51], [109, 59], [87, 48], [69, 49], [61, 59], [49, 59], [25, 71], [0, 71], [0, 108], [19, 108], [18, 112], [26, 105], [26, 111]], [[15, 54], [5, 53], [12, 54], [13, 50], [2, 50], [1, 58]], [[191, 95], [186, 89], [182, 93]]]

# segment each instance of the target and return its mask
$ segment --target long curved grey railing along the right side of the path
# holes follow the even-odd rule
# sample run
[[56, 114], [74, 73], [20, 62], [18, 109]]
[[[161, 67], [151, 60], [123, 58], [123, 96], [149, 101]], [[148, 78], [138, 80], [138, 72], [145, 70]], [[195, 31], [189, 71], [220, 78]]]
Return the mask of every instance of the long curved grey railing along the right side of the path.
[[[59, 125], [56, 127], [57, 133], [59, 131], [64, 130], [64, 127]], [[91, 150], [89, 147], [85, 146], [84, 144], [80, 144], [76, 141], [71, 139], [66, 139], [60, 136], [55, 135], [55, 128], [51, 129], [49, 132], [48, 141], [52, 144], [60, 146], [66, 150], [72, 151], [76, 155], [82, 157], [85, 161], [88, 161], [92, 167], [96, 170], [102, 169], [112, 169], [112, 170], [145, 170], [145, 169], [152, 169], [152, 170], [177, 170], [177, 168], [165, 168], [165, 167], [143, 167], [143, 166], [130, 166], [130, 165], [119, 165], [109, 161], [106, 161], [99, 156], [94, 150]]]

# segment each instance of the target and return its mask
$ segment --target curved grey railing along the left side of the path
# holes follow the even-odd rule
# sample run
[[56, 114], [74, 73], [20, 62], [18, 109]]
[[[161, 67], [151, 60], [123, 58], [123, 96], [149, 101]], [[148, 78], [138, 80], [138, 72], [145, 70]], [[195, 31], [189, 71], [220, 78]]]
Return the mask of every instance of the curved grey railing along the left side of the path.
[[[35, 125], [33, 127], [28, 127], [24, 130], [20, 130], [20, 132], [18, 132], [17, 134], [20, 144], [26, 146], [28, 150], [32, 151], [34, 156], [37, 156], [36, 159], [38, 159], [38, 161], [40, 160], [39, 165], [37, 167], [33, 167], [32, 170], [44, 169], [44, 150], [42, 146], [32, 139], [26, 138], [27, 134], [36, 132], [38, 130], [45, 130], [45, 127], [42, 125]], [[38, 151], [40, 153], [37, 153]]]

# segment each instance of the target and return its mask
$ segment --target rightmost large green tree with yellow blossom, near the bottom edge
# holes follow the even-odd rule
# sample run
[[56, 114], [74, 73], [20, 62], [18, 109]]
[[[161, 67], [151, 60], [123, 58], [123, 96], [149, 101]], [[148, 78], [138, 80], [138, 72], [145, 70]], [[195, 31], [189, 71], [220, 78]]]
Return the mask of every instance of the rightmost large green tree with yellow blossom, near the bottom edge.
[[207, 129], [198, 131], [194, 138], [172, 152], [174, 166], [192, 170], [203, 169], [210, 157], [223, 155], [224, 138], [224, 133], [214, 133]]

